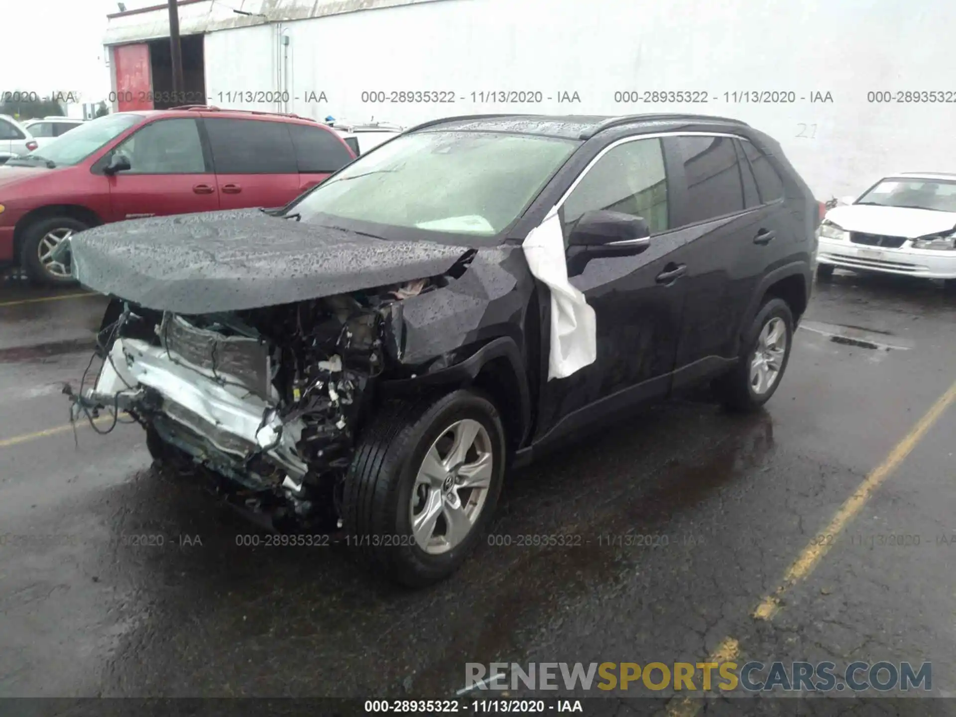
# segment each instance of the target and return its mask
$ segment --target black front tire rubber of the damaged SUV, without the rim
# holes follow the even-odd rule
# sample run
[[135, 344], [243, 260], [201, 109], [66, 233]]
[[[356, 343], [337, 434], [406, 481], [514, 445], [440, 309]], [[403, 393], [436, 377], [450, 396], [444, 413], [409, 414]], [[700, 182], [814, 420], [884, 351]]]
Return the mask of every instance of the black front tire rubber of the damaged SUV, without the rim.
[[[466, 537], [443, 554], [419, 547], [410, 503], [425, 453], [452, 424], [472, 419], [491, 444], [488, 493]], [[350, 547], [375, 572], [407, 587], [424, 587], [454, 573], [488, 526], [505, 473], [505, 431], [484, 394], [456, 390], [438, 400], [389, 402], [359, 437], [342, 496], [342, 521]]]

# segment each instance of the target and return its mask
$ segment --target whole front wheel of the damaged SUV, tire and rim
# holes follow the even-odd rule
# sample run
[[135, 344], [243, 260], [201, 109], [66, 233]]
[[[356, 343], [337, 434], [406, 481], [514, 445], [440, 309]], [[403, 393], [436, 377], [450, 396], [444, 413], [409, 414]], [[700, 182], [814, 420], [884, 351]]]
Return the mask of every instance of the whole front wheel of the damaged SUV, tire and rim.
[[483, 394], [380, 408], [345, 479], [346, 541], [409, 587], [456, 571], [488, 525], [505, 472], [505, 432]]

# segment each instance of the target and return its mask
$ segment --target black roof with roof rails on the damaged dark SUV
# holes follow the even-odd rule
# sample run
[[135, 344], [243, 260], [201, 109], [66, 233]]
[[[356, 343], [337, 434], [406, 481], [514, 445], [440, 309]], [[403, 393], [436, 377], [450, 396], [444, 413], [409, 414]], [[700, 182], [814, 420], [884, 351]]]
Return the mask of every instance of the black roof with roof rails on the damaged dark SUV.
[[624, 115], [465, 115], [431, 120], [411, 127], [408, 131], [422, 129], [453, 130], [456, 132], [513, 132], [520, 134], [547, 135], [569, 140], [588, 140], [598, 132], [611, 127], [657, 123], [706, 123], [734, 124], [749, 127], [741, 120], [711, 115], [648, 114]]

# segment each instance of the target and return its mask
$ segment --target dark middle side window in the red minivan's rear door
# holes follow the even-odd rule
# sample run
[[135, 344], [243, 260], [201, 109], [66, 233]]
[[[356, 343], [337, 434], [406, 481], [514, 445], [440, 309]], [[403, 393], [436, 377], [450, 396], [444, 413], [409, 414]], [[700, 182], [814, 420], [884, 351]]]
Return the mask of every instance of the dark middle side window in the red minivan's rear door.
[[206, 118], [217, 174], [296, 174], [289, 124]]

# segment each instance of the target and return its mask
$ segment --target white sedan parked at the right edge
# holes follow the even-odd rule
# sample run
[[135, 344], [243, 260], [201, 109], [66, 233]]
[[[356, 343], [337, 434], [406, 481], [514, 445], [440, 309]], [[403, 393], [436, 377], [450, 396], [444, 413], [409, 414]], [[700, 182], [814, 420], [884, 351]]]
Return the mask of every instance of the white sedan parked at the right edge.
[[956, 174], [885, 177], [817, 229], [817, 278], [834, 269], [944, 279], [956, 287]]

